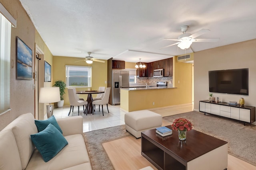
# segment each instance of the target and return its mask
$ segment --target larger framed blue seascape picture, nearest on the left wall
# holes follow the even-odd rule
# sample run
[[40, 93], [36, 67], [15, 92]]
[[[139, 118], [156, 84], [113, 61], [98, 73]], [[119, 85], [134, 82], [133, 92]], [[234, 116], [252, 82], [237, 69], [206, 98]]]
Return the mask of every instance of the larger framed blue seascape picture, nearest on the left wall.
[[17, 37], [16, 79], [32, 80], [32, 50]]

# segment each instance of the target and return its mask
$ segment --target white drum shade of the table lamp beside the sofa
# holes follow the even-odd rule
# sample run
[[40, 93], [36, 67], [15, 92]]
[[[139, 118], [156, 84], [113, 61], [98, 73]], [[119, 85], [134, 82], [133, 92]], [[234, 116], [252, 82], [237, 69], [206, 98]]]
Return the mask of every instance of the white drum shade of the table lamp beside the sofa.
[[59, 87], [41, 87], [39, 103], [54, 103], [60, 101]]

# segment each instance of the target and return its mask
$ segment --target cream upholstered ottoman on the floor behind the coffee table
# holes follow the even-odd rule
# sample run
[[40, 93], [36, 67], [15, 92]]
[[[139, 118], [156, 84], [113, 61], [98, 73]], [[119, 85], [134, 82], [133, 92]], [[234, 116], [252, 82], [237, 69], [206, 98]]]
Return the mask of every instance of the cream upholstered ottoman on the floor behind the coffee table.
[[162, 116], [149, 110], [139, 110], [124, 115], [125, 129], [137, 139], [141, 132], [162, 126]]

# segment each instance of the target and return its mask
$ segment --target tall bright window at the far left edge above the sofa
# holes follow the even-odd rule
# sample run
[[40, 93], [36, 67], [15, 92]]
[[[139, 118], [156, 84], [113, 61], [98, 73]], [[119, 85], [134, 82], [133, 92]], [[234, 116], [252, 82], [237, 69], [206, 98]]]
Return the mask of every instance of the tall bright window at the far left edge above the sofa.
[[10, 110], [11, 28], [10, 21], [0, 13], [0, 115]]

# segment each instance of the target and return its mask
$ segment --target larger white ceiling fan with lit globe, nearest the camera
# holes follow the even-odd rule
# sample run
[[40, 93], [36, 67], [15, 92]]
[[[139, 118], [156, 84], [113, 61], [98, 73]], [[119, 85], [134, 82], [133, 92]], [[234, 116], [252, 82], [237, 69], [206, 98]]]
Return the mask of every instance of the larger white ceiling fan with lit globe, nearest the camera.
[[188, 49], [192, 43], [198, 43], [198, 42], [217, 42], [219, 41], [220, 38], [200, 38], [200, 39], [195, 39], [196, 37], [199, 37], [200, 35], [203, 35], [205, 33], [208, 33], [210, 30], [209, 29], [201, 29], [200, 31], [197, 31], [194, 34], [186, 33], [188, 30], [188, 25], [182, 26], [181, 31], [183, 32], [182, 35], [178, 37], [178, 39], [171, 39], [171, 38], [164, 38], [164, 40], [170, 40], [170, 41], [179, 41], [177, 43], [167, 45], [165, 47], [162, 47], [160, 49], [170, 47], [173, 45], [178, 44], [178, 47], [180, 49]]

